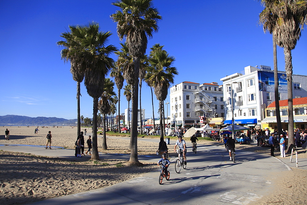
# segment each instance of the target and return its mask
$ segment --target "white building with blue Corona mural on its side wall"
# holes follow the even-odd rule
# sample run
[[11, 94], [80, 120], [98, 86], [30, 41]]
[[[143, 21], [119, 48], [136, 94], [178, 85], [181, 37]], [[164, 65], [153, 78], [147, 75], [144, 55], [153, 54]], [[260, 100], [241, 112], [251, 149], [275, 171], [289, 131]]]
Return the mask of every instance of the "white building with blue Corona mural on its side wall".
[[[244, 68], [244, 74], [234, 73], [220, 79], [224, 88], [225, 124], [232, 123], [232, 99], [234, 123], [249, 126], [260, 125], [265, 118], [264, 109], [275, 101], [274, 71], [270, 66], [256, 67], [247, 66]], [[307, 76], [292, 75], [292, 78], [293, 98], [306, 97]], [[286, 72], [278, 71], [277, 83], [279, 100], [288, 99]]]

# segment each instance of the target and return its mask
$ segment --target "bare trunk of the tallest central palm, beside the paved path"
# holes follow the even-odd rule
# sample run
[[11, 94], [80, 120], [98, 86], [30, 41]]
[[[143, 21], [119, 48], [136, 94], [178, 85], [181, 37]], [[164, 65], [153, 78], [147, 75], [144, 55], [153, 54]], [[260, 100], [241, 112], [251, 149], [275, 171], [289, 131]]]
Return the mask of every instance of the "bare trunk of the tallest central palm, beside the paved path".
[[138, 161], [138, 76], [139, 76], [139, 68], [140, 68], [140, 58], [134, 57], [134, 70], [135, 77], [133, 91], [131, 93], [132, 100], [132, 114], [131, 114], [131, 134], [130, 134], [130, 142], [131, 142], [131, 152], [130, 152], [130, 164], [141, 165]]

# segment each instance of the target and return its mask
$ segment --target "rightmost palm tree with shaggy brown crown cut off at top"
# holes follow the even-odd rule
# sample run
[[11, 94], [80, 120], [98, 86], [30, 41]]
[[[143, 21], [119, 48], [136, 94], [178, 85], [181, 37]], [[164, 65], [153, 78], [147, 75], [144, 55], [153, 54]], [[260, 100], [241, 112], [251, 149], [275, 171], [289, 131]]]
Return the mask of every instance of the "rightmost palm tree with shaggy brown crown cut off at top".
[[268, 23], [267, 30], [272, 30], [276, 44], [284, 48], [288, 90], [288, 152], [290, 152], [294, 147], [291, 50], [295, 48], [304, 25], [307, 25], [307, 0], [262, 0], [262, 3], [272, 14], [270, 22], [275, 22], [273, 26]]

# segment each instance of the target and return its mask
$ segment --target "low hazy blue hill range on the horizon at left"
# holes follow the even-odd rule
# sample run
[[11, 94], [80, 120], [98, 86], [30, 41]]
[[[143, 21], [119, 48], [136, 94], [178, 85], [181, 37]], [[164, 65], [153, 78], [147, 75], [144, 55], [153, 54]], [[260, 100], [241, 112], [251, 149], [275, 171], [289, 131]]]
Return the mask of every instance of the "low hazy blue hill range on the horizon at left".
[[77, 119], [64, 119], [64, 118], [46, 118], [36, 117], [31, 118], [20, 115], [4, 115], [0, 116], [0, 125], [19, 125], [19, 126], [76, 126]]

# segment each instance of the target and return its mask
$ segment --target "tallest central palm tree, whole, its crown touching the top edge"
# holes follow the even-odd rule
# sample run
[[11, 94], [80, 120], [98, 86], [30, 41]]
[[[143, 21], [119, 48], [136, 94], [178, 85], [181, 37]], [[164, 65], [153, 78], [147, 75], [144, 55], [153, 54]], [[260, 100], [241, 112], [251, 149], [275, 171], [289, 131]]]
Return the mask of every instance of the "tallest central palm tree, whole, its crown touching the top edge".
[[153, 7], [153, 0], [121, 0], [112, 3], [118, 6], [115, 14], [111, 15], [113, 21], [117, 22], [117, 34], [122, 41], [126, 39], [129, 54], [134, 60], [134, 69], [130, 73], [134, 82], [132, 85], [132, 130], [130, 141], [133, 145], [130, 154], [130, 164], [141, 165], [138, 161], [138, 77], [140, 59], [145, 55], [147, 42], [152, 38], [153, 32], [158, 31], [157, 21], [162, 17]]

